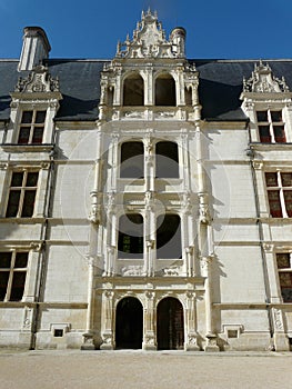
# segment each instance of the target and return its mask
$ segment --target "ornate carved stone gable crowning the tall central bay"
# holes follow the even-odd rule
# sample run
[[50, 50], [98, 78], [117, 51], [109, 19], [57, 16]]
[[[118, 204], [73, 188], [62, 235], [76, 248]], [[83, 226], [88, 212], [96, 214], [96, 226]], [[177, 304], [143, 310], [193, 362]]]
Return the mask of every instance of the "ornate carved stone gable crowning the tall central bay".
[[175, 28], [172, 30], [170, 40], [158, 21], [157, 12], [150, 9], [142, 11], [142, 20], [137, 23], [133, 38], [128, 34], [123, 43], [118, 42], [118, 58], [185, 58], [184, 38], [185, 30]]

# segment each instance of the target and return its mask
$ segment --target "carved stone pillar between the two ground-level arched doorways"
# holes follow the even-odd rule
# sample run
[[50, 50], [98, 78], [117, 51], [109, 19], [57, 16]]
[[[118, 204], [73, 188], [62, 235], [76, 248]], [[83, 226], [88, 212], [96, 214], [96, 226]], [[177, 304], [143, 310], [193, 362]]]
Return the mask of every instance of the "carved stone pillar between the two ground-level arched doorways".
[[143, 350], [157, 350], [155, 333], [154, 333], [154, 296], [152, 291], [145, 292], [145, 309], [144, 309], [144, 331], [143, 331]]

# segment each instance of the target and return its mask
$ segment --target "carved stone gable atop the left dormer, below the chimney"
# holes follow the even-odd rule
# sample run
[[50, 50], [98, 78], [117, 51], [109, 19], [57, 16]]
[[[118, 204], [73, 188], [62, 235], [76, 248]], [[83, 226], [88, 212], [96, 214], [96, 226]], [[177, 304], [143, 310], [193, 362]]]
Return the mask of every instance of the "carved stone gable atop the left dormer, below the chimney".
[[27, 78], [19, 78], [14, 91], [22, 93], [59, 92], [59, 80], [51, 77], [47, 67], [39, 64]]

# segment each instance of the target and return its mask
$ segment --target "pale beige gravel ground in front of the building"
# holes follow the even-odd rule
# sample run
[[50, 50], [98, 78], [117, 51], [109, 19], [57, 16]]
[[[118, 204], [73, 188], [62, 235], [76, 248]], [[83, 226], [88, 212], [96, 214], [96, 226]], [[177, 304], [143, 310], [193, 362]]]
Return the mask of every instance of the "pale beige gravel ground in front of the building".
[[2, 350], [0, 388], [291, 389], [292, 352]]

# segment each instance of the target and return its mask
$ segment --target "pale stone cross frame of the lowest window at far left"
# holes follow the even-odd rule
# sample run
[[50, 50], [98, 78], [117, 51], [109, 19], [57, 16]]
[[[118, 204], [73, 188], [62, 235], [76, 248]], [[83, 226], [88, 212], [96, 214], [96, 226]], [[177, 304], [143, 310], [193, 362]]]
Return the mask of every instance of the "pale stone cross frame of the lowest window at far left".
[[[27, 250], [12, 250], [12, 251], [1, 251], [0, 256], [2, 253], [11, 253], [11, 260], [10, 260], [10, 267], [8, 268], [1, 268], [1, 262], [0, 262], [0, 273], [9, 273], [8, 276], [8, 281], [7, 281], [7, 287], [6, 287], [6, 295], [3, 299], [0, 299], [0, 301], [2, 302], [18, 302], [18, 301], [22, 301], [23, 297], [24, 297], [24, 291], [26, 291], [26, 286], [27, 286], [27, 281], [28, 281], [28, 270], [29, 270], [29, 251]], [[27, 263], [26, 267], [16, 267], [16, 262], [17, 262], [17, 256], [18, 253], [26, 253], [27, 255]], [[23, 282], [23, 287], [22, 287], [22, 296], [20, 299], [12, 299], [11, 300], [11, 295], [13, 293], [13, 280], [14, 280], [14, 275], [16, 273], [20, 273], [20, 272], [24, 272], [24, 282]]]

